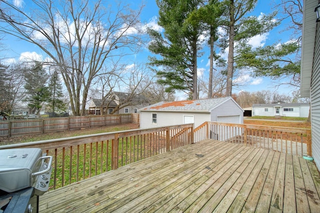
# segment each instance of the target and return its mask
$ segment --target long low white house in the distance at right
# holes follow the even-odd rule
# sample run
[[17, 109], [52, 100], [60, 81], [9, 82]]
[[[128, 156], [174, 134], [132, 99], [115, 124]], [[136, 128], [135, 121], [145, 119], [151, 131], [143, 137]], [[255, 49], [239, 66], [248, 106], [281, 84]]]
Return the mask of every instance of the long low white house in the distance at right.
[[253, 104], [252, 116], [286, 116], [307, 118], [309, 103]]

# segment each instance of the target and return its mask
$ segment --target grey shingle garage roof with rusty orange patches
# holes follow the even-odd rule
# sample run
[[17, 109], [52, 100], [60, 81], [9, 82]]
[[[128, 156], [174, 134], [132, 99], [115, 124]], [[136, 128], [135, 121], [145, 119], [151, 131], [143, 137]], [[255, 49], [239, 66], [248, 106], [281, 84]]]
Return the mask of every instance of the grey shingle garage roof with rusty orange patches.
[[140, 111], [201, 111], [209, 112], [220, 104], [232, 99], [231, 97], [185, 100], [173, 102], [159, 102], [147, 107], [143, 107]]

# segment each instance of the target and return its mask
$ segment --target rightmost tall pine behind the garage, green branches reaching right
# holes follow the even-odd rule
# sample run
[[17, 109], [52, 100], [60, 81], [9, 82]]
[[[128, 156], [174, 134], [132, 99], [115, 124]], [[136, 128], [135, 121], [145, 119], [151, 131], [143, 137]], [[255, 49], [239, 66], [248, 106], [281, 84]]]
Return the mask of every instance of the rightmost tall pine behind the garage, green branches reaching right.
[[[234, 73], [234, 63], [240, 59], [234, 57], [234, 52], [242, 49], [249, 38], [260, 35], [271, 30], [278, 22], [273, 18], [275, 13], [262, 15], [261, 17], [248, 16], [256, 5], [257, 0], [224, 0], [226, 8], [220, 26], [225, 30], [225, 37], [221, 39], [221, 48], [228, 47], [227, 62], [227, 83], [226, 96], [232, 94], [232, 77]], [[234, 46], [234, 43], [237, 45]]]

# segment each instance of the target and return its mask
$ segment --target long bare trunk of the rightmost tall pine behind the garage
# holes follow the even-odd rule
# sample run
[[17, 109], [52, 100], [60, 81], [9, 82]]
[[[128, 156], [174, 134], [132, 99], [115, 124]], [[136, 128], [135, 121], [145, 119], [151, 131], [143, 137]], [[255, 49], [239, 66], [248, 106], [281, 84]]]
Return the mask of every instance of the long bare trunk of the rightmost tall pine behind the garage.
[[233, 45], [234, 45], [234, 2], [230, 0], [229, 53], [226, 80], [226, 96], [232, 95], [233, 77]]

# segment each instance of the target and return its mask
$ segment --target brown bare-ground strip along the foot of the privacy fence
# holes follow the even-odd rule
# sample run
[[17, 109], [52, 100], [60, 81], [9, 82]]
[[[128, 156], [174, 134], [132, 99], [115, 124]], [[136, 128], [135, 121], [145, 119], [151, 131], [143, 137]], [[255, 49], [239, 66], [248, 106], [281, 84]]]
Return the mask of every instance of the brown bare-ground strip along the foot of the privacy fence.
[[39, 135], [26, 135], [21, 137], [0, 137], [0, 146], [7, 144], [18, 144], [32, 141], [50, 140], [56, 138], [67, 138], [80, 135], [91, 135], [105, 132], [116, 132], [129, 129], [139, 129], [139, 124], [120, 124], [104, 127], [94, 127], [87, 129], [78, 129], [64, 132], [52, 132]]

